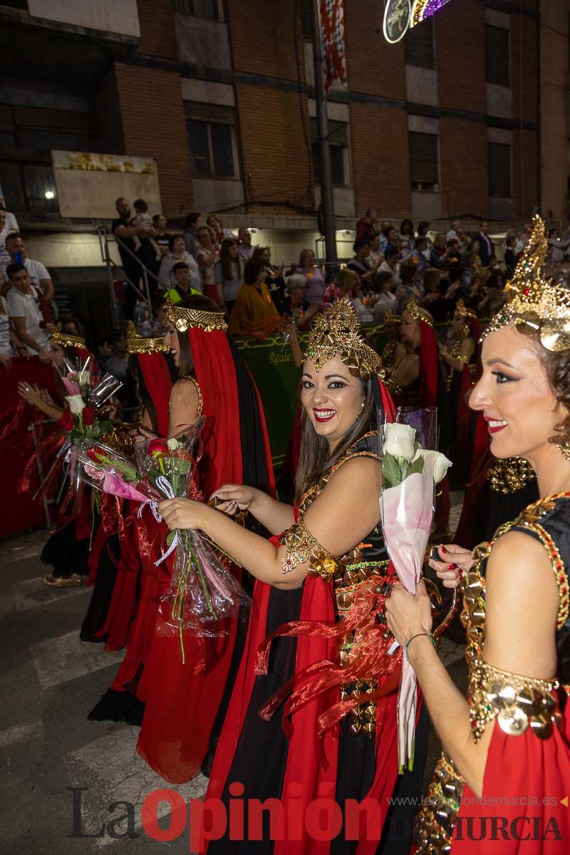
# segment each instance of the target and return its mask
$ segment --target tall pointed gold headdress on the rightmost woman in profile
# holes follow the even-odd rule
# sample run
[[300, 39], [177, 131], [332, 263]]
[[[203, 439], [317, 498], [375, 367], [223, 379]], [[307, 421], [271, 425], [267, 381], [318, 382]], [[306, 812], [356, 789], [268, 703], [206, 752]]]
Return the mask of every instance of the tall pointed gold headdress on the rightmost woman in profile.
[[505, 289], [510, 302], [491, 319], [481, 340], [514, 321], [521, 332], [538, 333], [547, 351], [570, 350], [570, 290], [544, 275], [548, 249], [544, 221], [536, 215], [532, 235]]

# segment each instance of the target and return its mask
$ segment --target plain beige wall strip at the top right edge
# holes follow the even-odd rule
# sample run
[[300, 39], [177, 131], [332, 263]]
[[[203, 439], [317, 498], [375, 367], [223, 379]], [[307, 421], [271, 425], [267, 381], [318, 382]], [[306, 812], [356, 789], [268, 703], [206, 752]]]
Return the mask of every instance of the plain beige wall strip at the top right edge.
[[[568, 159], [568, 0], [541, 3], [542, 209], [547, 216], [567, 212]], [[555, 31], [558, 32], [555, 32]]]

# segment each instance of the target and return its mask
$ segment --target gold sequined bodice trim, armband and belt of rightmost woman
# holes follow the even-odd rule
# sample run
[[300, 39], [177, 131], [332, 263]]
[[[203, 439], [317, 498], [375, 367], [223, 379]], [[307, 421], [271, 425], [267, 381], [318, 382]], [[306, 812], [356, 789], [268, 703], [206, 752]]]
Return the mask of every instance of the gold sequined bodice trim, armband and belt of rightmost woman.
[[[570, 493], [540, 499], [523, 510], [513, 522], [502, 525], [494, 540], [481, 544], [473, 552], [473, 568], [463, 575], [463, 611], [461, 622], [466, 628], [465, 657], [469, 671], [467, 699], [473, 740], [479, 741], [490, 722], [504, 734], [519, 737], [527, 730], [529, 738], [549, 739], [561, 723], [560, 699], [567, 695], [570, 676], [570, 617], [568, 579], [564, 557], [570, 561]], [[503, 534], [523, 531], [538, 540], [546, 550], [559, 591], [556, 619], [558, 679], [539, 680], [511, 674], [496, 668], [484, 659], [485, 642], [485, 564], [491, 549]], [[562, 546], [563, 542], [563, 546]], [[428, 787], [424, 807], [415, 828], [418, 852], [438, 855], [450, 852], [455, 819], [461, 806], [465, 781], [452, 760], [443, 754]]]

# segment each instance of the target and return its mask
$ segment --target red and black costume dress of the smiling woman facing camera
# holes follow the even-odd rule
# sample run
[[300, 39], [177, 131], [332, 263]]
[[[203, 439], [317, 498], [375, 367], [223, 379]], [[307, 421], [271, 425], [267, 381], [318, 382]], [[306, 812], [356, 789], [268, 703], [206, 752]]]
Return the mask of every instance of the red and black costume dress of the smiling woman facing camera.
[[[326, 481], [361, 456], [379, 459], [377, 433], [365, 434], [303, 496], [294, 508], [295, 524], [272, 539], [274, 545], [295, 541], [304, 512]], [[267, 826], [262, 840], [248, 840], [246, 825], [245, 840], [226, 835], [210, 843], [209, 855], [372, 855], [409, 847], [414, 808], [404, 806], [405, 797], [413, 805], [420, 793], [426, 718], [420, 716], [416, 734], [415, 769], [398, 776], [401, 666], [399, 657], [386, 653], [382, 624], [394, 579], [377, 528], [347, 556], [313, 554], [303, 587], [284, 591], [256, 582], [244, 657], [206, 797], [222, 799], [227, 808], [229, 787], [240, 783], [244, 799], [281, 799], [285, 828], [290, 811], [300, 806], [304, 816], [319, 796], [341, 807], [345, 799], [373, 799], [379, 805], [376, 840], [365, 839], [364, 819], [360, 839], [350, 841], [341, 830], [330, 842], [318, 842], [305, 828], [300, 838], [285, 834], [273, 842]], [[403, 797], [398, 805], [390, 802], [395, 794]]]

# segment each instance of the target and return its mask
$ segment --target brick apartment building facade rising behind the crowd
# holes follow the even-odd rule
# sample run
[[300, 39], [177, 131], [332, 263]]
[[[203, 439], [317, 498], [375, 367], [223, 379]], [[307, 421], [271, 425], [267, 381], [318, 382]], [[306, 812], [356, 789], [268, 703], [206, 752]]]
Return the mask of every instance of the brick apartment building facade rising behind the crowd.
[[[391, 45], [379, 0], [345, 0], [348, 83], [328, 105], [338, 228], [370, 205], [414, 221], [528, 218], [540, 202], [540, 5], [454, 0]], [[117, 37], [102, 56], [93, 34], [92, 50], [74, 55], [94, 150], [154, 157], [174, 220], [196, 208], [234, 225], [314, 229], [310, 0], [136, 7], [138, 38]]]

